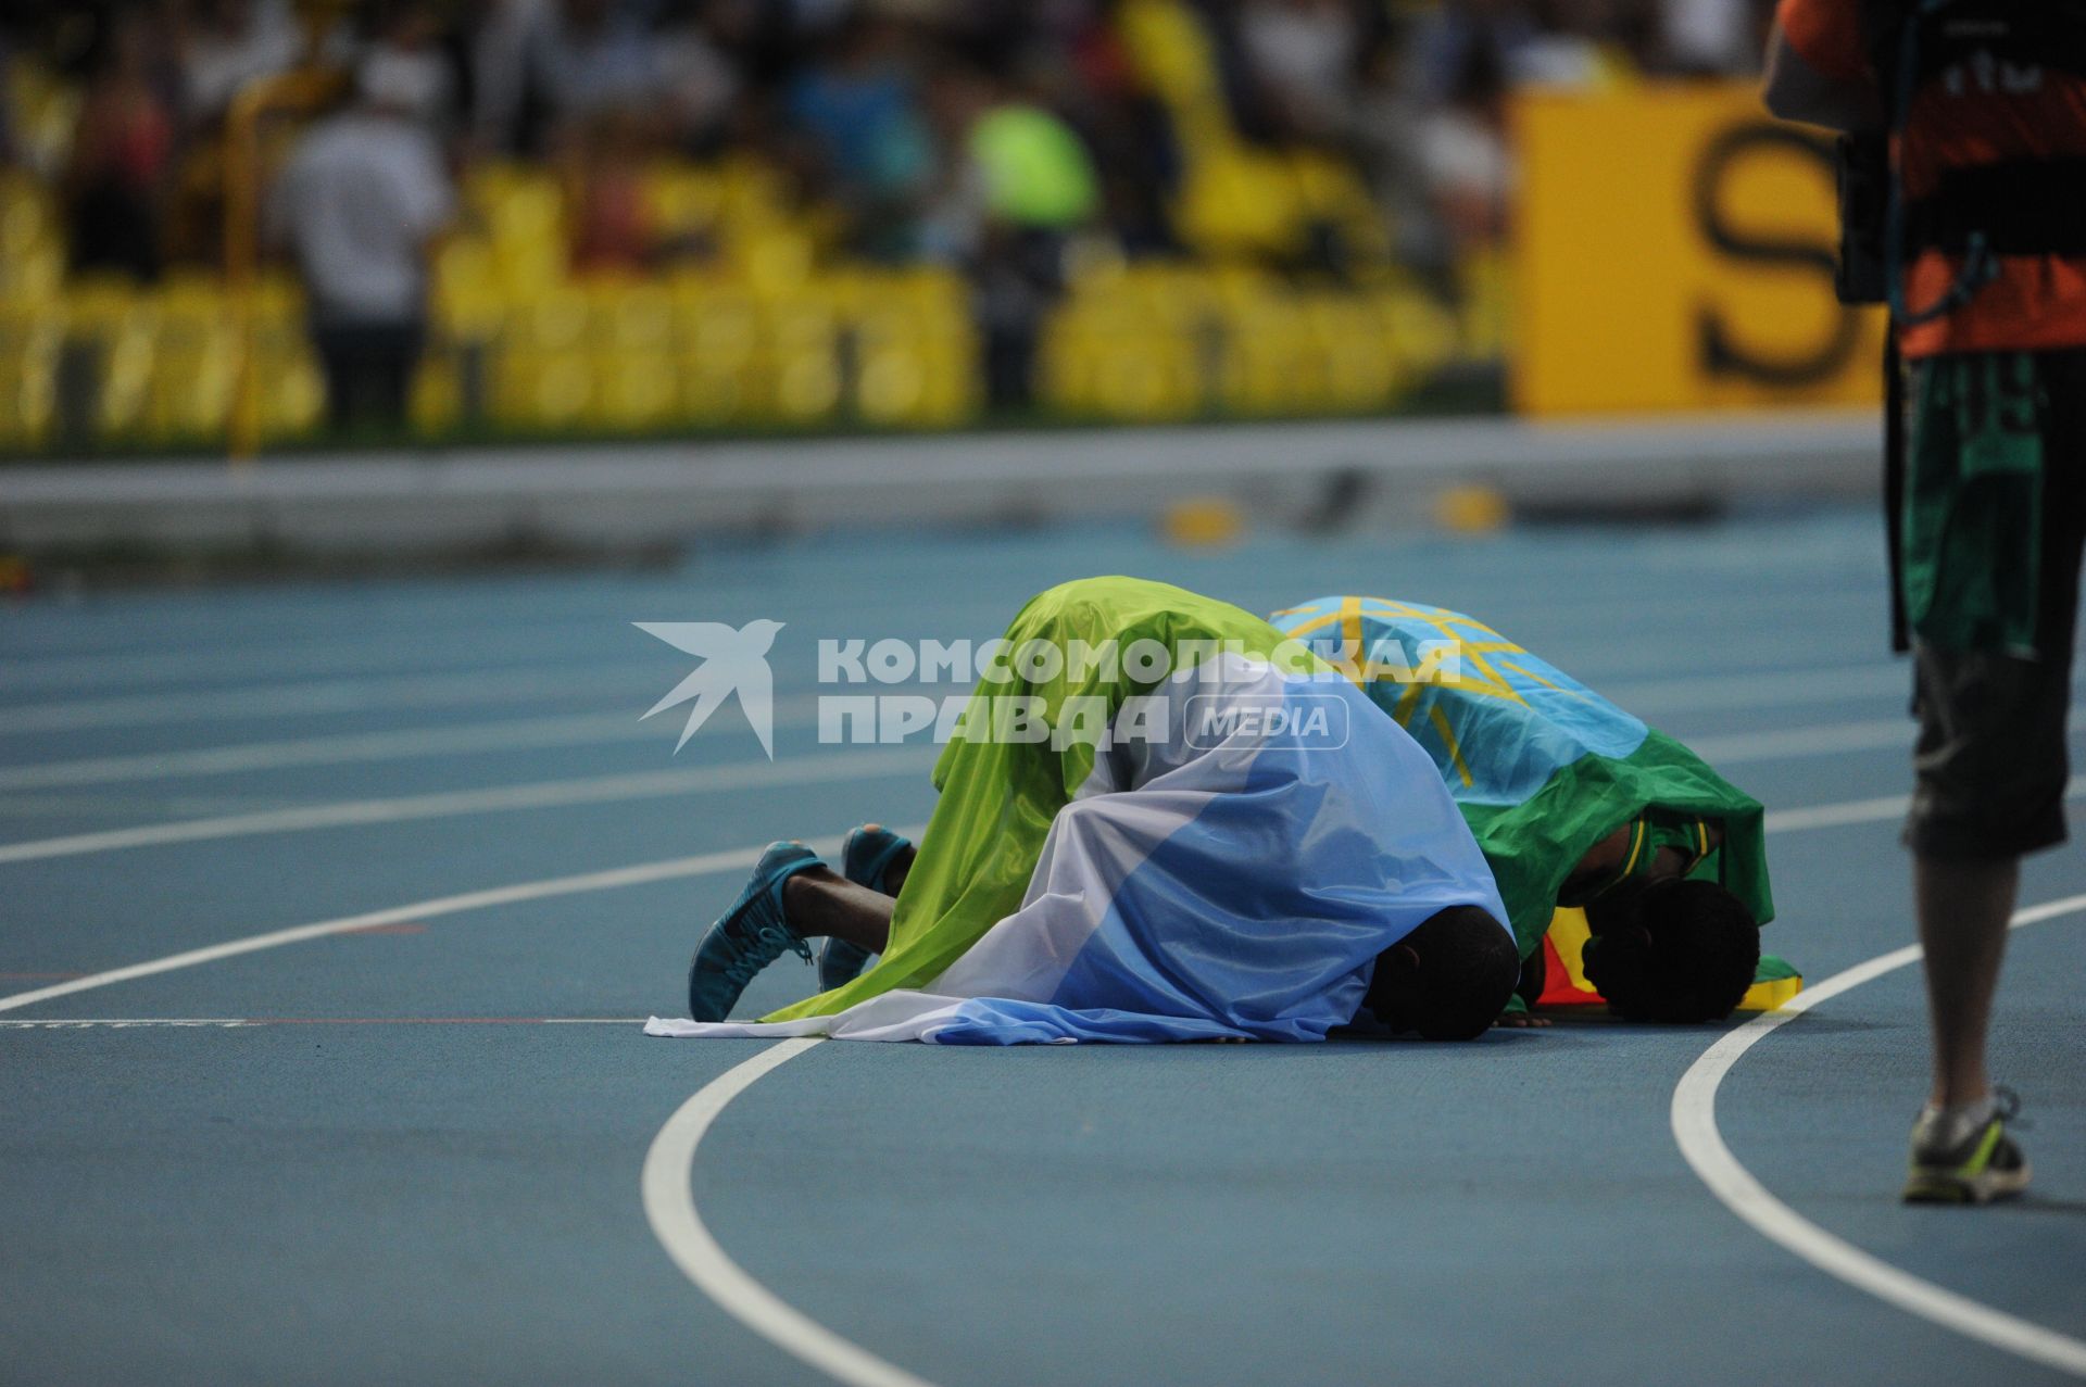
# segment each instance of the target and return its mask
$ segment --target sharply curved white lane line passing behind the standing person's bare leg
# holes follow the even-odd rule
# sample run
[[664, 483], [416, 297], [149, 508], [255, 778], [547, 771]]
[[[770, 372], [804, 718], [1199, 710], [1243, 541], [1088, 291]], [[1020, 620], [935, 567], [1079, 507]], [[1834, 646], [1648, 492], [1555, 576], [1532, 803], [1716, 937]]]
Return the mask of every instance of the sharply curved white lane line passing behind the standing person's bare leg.
[[[2086, 895], [2065, 897], [2063, 901], [2019, 911], [2011, 928], [2036, 924], [2038, 920], [2055, 920], [2057, 916], [2082, 909], [2086, 909]], [[1779, 1012], [1763, 1012], [1744, 1026], [1727, 1032], [1696, 1057], [1673, 1089], [1673, 1141], [1679, 1143], [1681, 1155], [1688, 1158], [1688, 1164], [1725, 1208], [1752, 1224], [1756, 1233], [1794, 1251], [1827, 1276], [1836, 1276], [1942, 1329], [1952, 1329], [1959, 1335], [1990, 1343], [1996, 1349], [2040, 1362], [2059, 1372], [2086, 1377], [2086, 1343], [1913, 1276], [1834, 1237], [1781, 1199], [1775, 1199], [1750, 1170], [1738, 1164], [1731, 1147], [1723, 1143], [1723, 1133], [1717, 1130], [1717, 1087], [1748, 1049], [1804, 1012], [1917, 959], [1919, 945], [1892, 949], [1867, 964], [1857, 964], [1846, 972], [1834, 974], [1817, 987], [1804, 989], [1786, 1001]]]

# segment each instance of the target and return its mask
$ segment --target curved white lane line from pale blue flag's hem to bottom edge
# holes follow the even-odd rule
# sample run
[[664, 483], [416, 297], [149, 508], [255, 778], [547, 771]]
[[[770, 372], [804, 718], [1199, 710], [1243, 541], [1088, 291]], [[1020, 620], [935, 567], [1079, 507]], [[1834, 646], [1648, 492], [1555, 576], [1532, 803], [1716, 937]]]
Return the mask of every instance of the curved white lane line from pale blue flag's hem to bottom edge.
[[749, 1276], [709, 1235], [695, 1208], [695, 1149], [701, 1145], [703, 1133], [718, 1120], [724, 1105], [753, 1087], [757, 1078], [818, 1043], [816, 1037], [805, 1037], [770, 1045], [711, 1078], [674, 1110], [674, 1116], [653, 1137], [651, 1149], [645, 1151], [645, 1170], [638, 1176], [645, 1218], [659, 1245], [674, 1258], [674, 1266], [726, 1314], [768, 1343], [834, 1381], [849, 1383], [849, 1387], [932, 1387], [926, 1379], [832, 1333]]

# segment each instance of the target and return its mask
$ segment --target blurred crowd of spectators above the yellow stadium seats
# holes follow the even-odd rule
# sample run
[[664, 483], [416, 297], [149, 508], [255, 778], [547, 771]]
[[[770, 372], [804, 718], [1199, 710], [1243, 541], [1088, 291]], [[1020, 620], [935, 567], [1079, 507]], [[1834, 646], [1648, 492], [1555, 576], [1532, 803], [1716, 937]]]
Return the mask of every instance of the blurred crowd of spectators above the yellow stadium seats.
[[[73, 273], [223, 261], [225, 113], [300, 65], [350, 73], [267, 198], [269, 244], [346, 357], [411, 352], [453, 188], [488, 161], [561, 169], [572, 271], [701, 261], [649, 225], [638, 173], [749, 154], [839, 252], [974, 286], [991, 396], [1074, 238], [1181, 254], [1179, 113], [1122, 42], [1139, 0], [13, 0], [0, 65], [77, 92], [60, 150], [0, 159], [60, 190]], [[1250, 144], [1348, 161], [1421, 271], [1504, 234], [1506, 96], [1752, 71], [1769, 0], [1187, 0]], [[1318, 244], [1304, 271], [1341, 273]], [[369, 330], [375, 327], [375, 336]], [[388, 334], [388, 336], [386, 336]], [[355, 342], [346, 338], [359, 338]], [[382, 338], [382, 340], [380, 340]], [[373, 371], [373, 369], [371, 369]], [[380, 400], [398, 384], [365, 371]], [[338, 390], [336, 390], [338, 394]]]

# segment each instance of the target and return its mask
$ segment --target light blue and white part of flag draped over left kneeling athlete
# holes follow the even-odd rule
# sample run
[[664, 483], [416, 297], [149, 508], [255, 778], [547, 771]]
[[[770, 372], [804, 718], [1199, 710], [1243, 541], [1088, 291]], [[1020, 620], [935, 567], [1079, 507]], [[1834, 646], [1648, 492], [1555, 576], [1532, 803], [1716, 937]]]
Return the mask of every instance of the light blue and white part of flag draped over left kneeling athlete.
[[1022, 907], [926, 991], [647, 1032], [1323, 1041], [1377, 955], [1452, 905], [1506, 920], [1427, 753], [1337, 674], [1224, 653], [1124, 701]]

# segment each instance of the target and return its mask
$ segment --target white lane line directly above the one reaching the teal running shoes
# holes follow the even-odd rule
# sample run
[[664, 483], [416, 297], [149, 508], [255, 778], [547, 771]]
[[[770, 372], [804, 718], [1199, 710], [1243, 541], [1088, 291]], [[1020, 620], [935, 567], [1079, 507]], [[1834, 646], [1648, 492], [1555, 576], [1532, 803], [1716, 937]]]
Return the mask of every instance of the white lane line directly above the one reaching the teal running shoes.
[[534, 784], [503, 784], [484, 790], [444, 790], [438, 795], [403, 795], [394, 799], [350, 799], [330, 805], [298, 805], [229, 813], [209, 820], [175, 820], [140, 828], [67, 834], [63, 838], [31, 838], [0, 845], [0, 863], [79, 857], [129, 847], [161, 847], [167, 843], [204, 843], [244, 838], [271, 832], [305, 832], [313, 828], [348, 828], [369, 824], [403, 824], [411, 820], [455, 818], [467, 813], [505, 813], [515, 809], [551, 809], [565, 805], [603, 805], [630, 799], [665, 799], [672, 795], [707, 795], [718, 790], [757, 790], [782, 784], [824, 784], [834, 780], [874, 780], [880, 776], [912, 776], [932, 765], [932, 747], [843, 751], [797, 761], [734, 761], [688, 770], [647, 770], [624, 776], [588, 776], [582, 780], [540, 780]]

